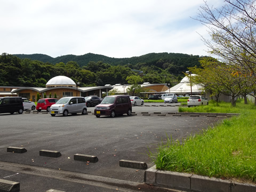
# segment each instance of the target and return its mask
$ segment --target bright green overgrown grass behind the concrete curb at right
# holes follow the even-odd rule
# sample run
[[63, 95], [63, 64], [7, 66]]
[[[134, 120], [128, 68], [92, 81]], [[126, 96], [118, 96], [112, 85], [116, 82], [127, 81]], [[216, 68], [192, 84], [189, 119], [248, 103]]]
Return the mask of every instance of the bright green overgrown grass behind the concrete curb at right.
[[213, 102], [186, 109], [241, 115], [223, 119], [222, 123], [182, 141], [170, 137], [158, 146], [156, 154], [150, 154], [156, 168], [256, 183], [256, 106], [244, 105], [242, 101], [236, 107]]

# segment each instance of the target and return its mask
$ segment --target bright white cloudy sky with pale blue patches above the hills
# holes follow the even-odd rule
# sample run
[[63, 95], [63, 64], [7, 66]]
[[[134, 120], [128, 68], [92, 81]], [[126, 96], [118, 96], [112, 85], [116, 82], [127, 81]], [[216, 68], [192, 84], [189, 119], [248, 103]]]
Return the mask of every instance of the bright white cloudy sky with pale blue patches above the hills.
[[[0, 0], [0, 54], [207, 55], [203, 0]], [[219, 6], [223, 0], [209, 0]]]

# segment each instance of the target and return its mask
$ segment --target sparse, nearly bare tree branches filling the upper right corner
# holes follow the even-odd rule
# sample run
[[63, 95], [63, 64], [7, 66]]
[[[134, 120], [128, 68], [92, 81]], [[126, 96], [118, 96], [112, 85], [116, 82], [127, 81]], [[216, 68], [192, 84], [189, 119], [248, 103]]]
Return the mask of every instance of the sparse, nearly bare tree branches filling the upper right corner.
[[235, 73], [256, 77], [256, 0], [225, 0], [221, 9], [205, 2], [196, 20], [209, 29], [211, 40], [202, 36], [209, 53], [234, 67]]

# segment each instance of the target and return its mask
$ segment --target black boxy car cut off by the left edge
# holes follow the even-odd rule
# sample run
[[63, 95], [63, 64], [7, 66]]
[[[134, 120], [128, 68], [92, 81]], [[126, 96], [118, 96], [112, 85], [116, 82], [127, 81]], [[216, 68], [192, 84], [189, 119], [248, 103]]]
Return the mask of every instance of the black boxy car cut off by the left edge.
[[23, 102], [21, 97], [1, 97], [0, 98], [0, 113], [18, 112], [23, 113]]

